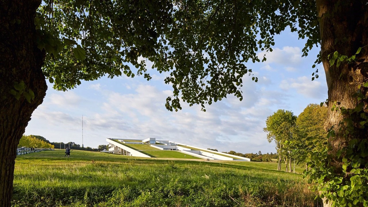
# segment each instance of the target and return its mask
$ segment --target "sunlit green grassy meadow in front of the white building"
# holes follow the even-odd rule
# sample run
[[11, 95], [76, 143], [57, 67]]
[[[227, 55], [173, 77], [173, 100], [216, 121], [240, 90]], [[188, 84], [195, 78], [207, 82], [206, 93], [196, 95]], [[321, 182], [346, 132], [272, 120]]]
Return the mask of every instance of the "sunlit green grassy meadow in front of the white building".
[[[15, 161], [14, 207], [318, 207], [275, 163], [43, 151]], [[298, 169], [301, 171], [301, 169]]]

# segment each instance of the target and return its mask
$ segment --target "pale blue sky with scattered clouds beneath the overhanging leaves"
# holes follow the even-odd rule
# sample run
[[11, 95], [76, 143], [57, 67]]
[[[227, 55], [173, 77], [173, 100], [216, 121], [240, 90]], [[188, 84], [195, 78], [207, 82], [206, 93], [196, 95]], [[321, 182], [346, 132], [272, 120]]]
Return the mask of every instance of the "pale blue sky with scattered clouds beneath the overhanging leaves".
[[66, 92], [56, 91], [48, 83], [46, 97], [33, 112], [25, 134], [92, 148], [107, 144], [106, 138], [155, 137], [221, 152], [275, 153], [275, 143], [269, 143], [263, 131], [267, 117], [278, 109], [299, 115], [309, 103], [319, 104], [327, 98], [322, 65], [317, 66], [319, 78], [311, 80], [320, 48], [301, 57], [304, 45], [297, 33], [284, 31], [275, 36], [266, 62], [246, 64], [258, 83], [243, 78], [243, 101], [228, 95], [207, 105], [206, 112], [187, 103], [181, 103], [183, 109], [178, 112], [166, 110], [172, 88], [164, 84], [165, 75], [154, 70], [149, 71], [151, 81], [139, 76], [103, 77], [82, 81]]

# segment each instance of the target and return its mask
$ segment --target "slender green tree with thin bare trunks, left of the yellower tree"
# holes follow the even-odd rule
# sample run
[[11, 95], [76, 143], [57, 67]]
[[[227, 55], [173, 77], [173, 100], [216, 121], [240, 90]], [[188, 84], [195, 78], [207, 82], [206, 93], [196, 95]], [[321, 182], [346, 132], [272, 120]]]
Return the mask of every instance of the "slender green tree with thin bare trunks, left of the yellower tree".
[[[269, 142], [275, 141], [277, 154], [279, 155], [277, 170], [281, 170], [281, 159], [284, 159], [286, 172], [291, 172], [290, 146], [287, 143], [293, 141], [293, 130], [296, 116], [293, 112], [282, 109], [274, 112], [266, 119], [266, 127], [263, 131], [267, 133]], [[289, 163], [289, 167], [288, 167]], [[288, 170], [289, 169], [289, 170]]]

